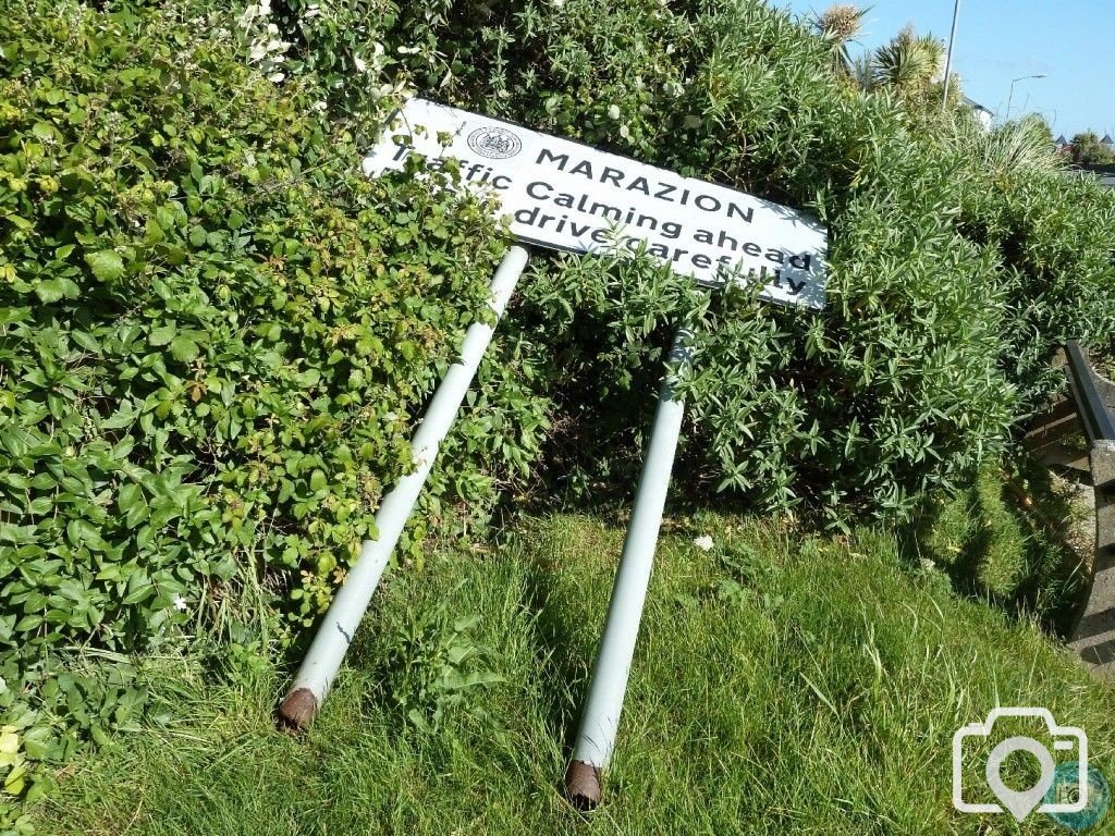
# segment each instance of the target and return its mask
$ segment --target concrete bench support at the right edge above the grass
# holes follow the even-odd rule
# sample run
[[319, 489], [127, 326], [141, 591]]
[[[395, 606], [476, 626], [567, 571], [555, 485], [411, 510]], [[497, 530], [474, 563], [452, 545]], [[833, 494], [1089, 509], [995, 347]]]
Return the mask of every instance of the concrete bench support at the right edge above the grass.
[[1087, 601], [1069, 644], [1102, 677], [1115, 674], [1115, 441], [1089, 450], [1096, 503], [1096, 553]]

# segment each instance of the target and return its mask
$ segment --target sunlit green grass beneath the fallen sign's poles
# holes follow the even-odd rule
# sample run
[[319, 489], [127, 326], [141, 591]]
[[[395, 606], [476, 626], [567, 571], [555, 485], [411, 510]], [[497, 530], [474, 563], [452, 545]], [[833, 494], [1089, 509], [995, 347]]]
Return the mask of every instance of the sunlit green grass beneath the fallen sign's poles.
[[[710, 552], [692, 543], [704, 534]], [[304, 738], [274, 729], [273, 668], [214, 684], [197, 663], [168, 663], [168, 719], [68, 767], [38, 827], [1057, 832], [1038, 815], [1022, 829], [952, 808], [952, 733], [996, 704], [1082, 726], [1092, 764], [1115, 777], [1113, 692], [1032, 623], [958, 597], [895, 534], [699, 515], [663, 532], [605, 803], [581, 816], [560, 781], [621, 539], [599, 517], [553, 516], [481, 557], [395, 573]], [[1027, 765], [1008, 768], [1020, 786]]]

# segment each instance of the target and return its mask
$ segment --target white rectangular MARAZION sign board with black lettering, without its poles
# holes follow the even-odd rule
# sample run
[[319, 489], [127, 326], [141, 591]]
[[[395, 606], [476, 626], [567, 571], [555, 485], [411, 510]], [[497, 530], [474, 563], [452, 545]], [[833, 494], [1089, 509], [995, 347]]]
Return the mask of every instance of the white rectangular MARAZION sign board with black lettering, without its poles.
[[651, 256], [702, 283], [735, 275], [762, 281], [773, 301], [824, 307], [825, 229], [777, 203], [418, 98], [363, 169], [401, 168], [410, 154], [459, 161], [466, 185], [491, 189], [524, 242], [573, 252], [646, 242]]

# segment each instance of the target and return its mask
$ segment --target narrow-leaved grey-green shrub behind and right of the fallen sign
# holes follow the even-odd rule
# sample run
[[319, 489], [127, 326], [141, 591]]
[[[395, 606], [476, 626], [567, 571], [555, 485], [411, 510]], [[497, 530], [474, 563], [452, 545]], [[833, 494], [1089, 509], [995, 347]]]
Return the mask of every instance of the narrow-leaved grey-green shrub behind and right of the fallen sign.
[[[833, 71], [831, 43], [758, 0], [435, 9], [420, 26], [385, 27], [384, 78], [827, 224], [825, 312], [719, 294], [702, 314], [681, 470], [708, 487], [764, 508], [807, 504], [834, 523], [909, 513], [921, 492], [964, 484], [1063, 385], [1047, 368], [1057, 343], [1115, 324], [1112, 195], [1067, 183], [1025, 126], [983, 138], [963, 113], [852, 89]], [[650, 327], [620, 325], [646, 271], [593, 263], [547, 260], [536, 279], [558, 274], [545, 284], [560, 292], [539, 297], [533, 282], [521, 312], [584, 300], [547, 323], [550, 357], [656, 368], [678, 312], [659, 304]], [[661, 303], [677, 298], [662, 292]], [[601, 324], [588, 343], [578, 320]], [[550, 377], [578, 377], [566, 371]], [[559, 382], [555, 398], [574, 414], [611, 408], [632, 421], [629, 395], [607, 397], [614, 373], [620, 386], [629, 379], [605, 364], [594, 391], [593, 381]], [[640, 400], [652, 390], [641, 377], [632, 389]]]

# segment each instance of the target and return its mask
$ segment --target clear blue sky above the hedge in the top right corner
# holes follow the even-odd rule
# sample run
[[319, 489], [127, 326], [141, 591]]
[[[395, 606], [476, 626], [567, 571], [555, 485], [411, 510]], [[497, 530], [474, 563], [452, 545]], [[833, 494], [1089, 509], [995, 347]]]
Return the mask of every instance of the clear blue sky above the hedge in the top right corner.
[[[845, 2], [847, 0], [844, 0]], [[778, 2], [797, 14], [823, 11], [830, 2]], [[920, 35], [948, 40], [953, 0], [864, 0], [870, 7], [859, 41], [874, 48], [912, 22]], [[964, 93], [1002, 118], [1011, 79], [1010, 114], [1038, 113], [1054, 135], [1092, 128], [1115, 136], [1115, 2], [1113, 0], [961, 0], [952, 69]], [[862, 49], [855, 45], [855, 55]]]

